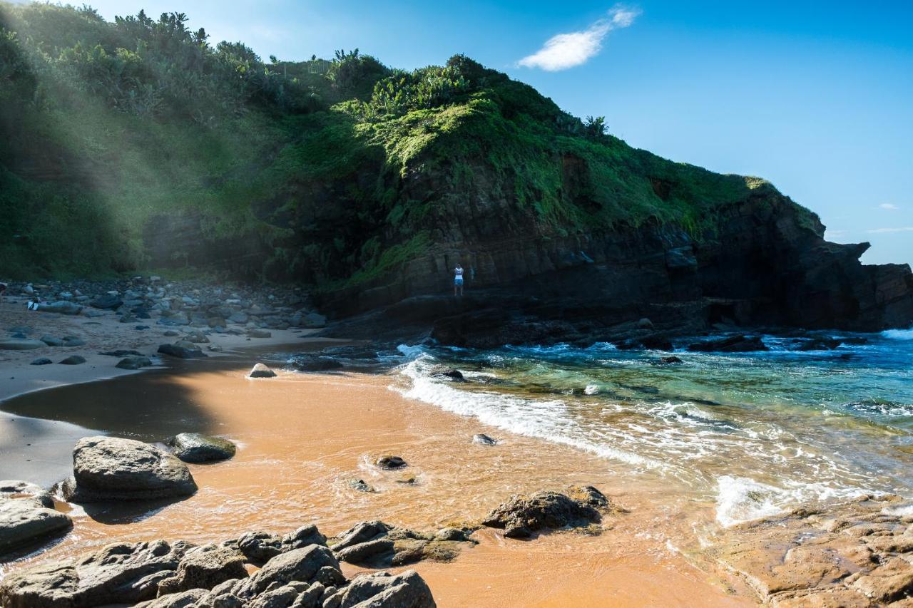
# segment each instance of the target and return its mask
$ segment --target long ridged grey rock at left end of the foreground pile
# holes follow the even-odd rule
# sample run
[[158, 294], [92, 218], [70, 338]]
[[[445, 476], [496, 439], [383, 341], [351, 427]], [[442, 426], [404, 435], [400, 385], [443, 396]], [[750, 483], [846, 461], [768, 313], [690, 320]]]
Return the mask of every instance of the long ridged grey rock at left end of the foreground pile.
[[77, 559], [10, 572], [0, 582], [5, 608], [90, 608], [152, 600], [189, 545], [164, 540], [115, 543]]

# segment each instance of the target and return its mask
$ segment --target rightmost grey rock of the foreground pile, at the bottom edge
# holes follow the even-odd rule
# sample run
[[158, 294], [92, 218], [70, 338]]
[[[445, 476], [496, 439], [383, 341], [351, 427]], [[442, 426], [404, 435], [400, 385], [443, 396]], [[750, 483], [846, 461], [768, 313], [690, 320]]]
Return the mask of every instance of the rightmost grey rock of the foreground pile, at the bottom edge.
[[345, 589], [337, 592], [337, 596], [339, 603], [331, 605], [338, 605], [340, 608], [435, 608], [437, 605], [431, 589], [414, 570], [407, 570], [395, 576], [387, 572], [362, 574], [352, 579]]

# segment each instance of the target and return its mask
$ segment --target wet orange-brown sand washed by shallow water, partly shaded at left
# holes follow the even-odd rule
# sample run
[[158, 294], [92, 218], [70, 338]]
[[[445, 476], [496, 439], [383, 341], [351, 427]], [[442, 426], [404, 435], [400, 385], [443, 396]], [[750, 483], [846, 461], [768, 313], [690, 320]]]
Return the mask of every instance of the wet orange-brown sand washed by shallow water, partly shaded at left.
[[[52, 389], [0, 405], [12, 415], [55, 414], [67, 424], [147, 441], [205, 431], [239, 447], [226, 463], [191, 466], [200, 487], [194, 497], [149, 513], [76, 508], [75, 528], [66, 538], [4, 570], [113, 540], [226, 540], [251, 529], [286, 532], [310, 522], [334, 535], [364, 519], [436, 529], [479, 519], [515, 492], [592, 484], [632, 511], [607, 517], [598, 536], [561, 532], [520, 541], [482, 529], [474, 535], [480, 543], [456, 561], [422, 562], [415, 570], [440, 606], [754, 603], [738, 582], [718, 578], [708, 564], [698, 569], [675, 549], [694, 536], [695, 521], [712, 518], [712, 506], [691, 504], [659, 480], [634, 486], [597, 456], [505, 435], [404, 399], [390, 390], [398, 380], [389, 374], [283, 373], [249, 380], [252, 362], [188, 365], [179, 373]], [[503, 442], [473, 444], [471, 436], [480, 432]], [[53, 450], [63, 447], [58, 442]], [[409, 466], [381, 471], [370, 464], [384, 454], [403, 456]], [[69, 446], [63, 456], [68, 459]], [[397, 483], [403, 477], [415, 477], [415, 485]], [[352, 479], [378, 491], [354, 490]]]

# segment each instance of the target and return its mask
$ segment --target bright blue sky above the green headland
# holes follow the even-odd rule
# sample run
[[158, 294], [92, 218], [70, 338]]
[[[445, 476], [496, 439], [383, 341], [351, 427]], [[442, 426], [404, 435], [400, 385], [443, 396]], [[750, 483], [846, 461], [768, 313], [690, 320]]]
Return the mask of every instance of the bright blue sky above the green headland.
[[913, 0], [95, 0], [181, 11], [268, 58], [464, 53], [638, 148], [770, 180], [866, 263], [913, 264]]

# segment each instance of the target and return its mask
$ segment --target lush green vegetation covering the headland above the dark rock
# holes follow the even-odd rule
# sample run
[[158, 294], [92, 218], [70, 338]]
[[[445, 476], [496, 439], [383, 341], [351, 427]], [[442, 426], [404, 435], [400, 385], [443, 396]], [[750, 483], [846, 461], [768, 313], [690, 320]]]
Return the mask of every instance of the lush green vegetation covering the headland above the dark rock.
[[[330, 288], [436, 246], [473, 197], [543, 238], [649, 220], [708, 238], [722, 205], [772, 188], [635, 150], [460, 55], [264, 61], [185, 21], [0, 3], [7, 276], [218, 267], [200, 251], [244, 243], [227, 269]], [[177, 218], [194, 246], [168, 241]]]

